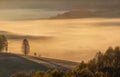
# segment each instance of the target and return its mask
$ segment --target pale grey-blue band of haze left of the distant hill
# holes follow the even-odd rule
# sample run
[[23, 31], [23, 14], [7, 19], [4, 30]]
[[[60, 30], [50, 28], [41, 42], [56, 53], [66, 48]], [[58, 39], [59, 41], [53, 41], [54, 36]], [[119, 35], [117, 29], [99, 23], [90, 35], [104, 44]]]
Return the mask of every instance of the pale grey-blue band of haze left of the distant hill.
[[2, 9], [0, 10], [0, 20], [37, 20], [49, 18], [63, 12], [44, 9]]

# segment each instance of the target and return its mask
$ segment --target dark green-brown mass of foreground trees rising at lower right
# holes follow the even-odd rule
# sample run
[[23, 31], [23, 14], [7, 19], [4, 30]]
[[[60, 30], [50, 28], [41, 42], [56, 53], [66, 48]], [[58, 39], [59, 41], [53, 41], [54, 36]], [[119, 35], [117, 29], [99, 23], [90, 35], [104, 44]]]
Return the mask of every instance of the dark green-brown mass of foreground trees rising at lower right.
[[54, 69], [48, 72], [16, 73], [11, 77], [120, 77], [120, 47], [109, 47], [105, 53], [98, 52], [92, 60], [87, 63], [82, 61], [72, 71]]

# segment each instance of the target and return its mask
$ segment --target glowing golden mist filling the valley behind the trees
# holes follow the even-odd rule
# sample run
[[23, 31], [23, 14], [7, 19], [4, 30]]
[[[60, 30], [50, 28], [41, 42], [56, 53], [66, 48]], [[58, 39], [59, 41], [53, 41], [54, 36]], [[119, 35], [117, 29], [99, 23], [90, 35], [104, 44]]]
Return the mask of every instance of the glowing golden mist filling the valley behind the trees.
[[[120, 45], [120, 19], [1, 21], [0, 30], [20, 35], [49, 36], [29, 40], [31, 55], [88, 61], [98, 51]], [[21, 53], [22, 40], [9, 40], [9, 52]]]

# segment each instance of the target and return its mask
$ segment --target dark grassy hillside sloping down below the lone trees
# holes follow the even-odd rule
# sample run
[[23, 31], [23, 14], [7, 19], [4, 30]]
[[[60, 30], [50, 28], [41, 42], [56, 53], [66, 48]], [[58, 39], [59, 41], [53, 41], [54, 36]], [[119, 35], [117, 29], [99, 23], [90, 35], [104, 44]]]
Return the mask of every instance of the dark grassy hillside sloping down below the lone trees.
[[[37, 62], [36, 62], [37, 61]], [[74, 64], [74, 67], [78, 64], [75, 62], [52, 60], [47, 58], [35, 58], [35, 57], [24, 57], [15, 54], [0, 53], [0, 77], [9, 77], [11, 74], [21, 71], [47, 71], [49, 69], [58, 68], [62, 70], [68, 70], [71, 68], [62, 66]]]

